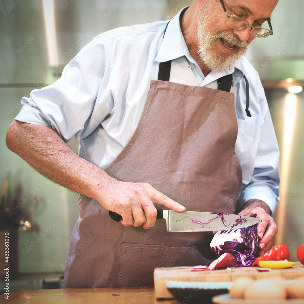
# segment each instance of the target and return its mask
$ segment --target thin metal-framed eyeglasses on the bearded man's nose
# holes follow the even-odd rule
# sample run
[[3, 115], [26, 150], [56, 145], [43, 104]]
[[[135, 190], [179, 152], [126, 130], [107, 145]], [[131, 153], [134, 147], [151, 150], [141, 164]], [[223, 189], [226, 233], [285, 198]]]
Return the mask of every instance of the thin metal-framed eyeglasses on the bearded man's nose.
[[250, 34], [254, 37], [259, 37], [259, 38], [265, 38], [269, 35], [273, 35], [273, 30], [271, 27], [271, 23], [270, 23], [270, 19], [267, 19], [268, 21], [268, 25], [269, 25], [269, 29], [264, 29], [261, 26], [251, 26], [247, 20], [241, 18], [240, 16], [237, 15], [229, 15], [227, 13], [226, 7], [223, 3], [223, 0], [219, 0], [221, 2], [221, 5], [223, 6], [223, 9], [225, 11], [225, 14], [227, 16], [227, 19], [225, 21], [225, 23], [230, 26], [233, 29], [244, 29], [247, 26], [250, 26]]

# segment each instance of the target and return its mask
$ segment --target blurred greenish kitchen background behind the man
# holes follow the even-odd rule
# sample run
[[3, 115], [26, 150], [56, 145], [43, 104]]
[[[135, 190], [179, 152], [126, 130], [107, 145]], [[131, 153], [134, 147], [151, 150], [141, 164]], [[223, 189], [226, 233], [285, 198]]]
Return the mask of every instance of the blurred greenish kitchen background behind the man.
[[[79, 214], [75, 193], [41, 176], [5, 145], [21, 97], [54, 82], [63, 66], [99, 33], [170, 19], [191, 2], [1, 0], [0, 230], [2, 237], [8, 228], [16, 235], [15, 277], [17, 272], [19, 277], [12, 289], [39, 289], [42, 278], [56, 281], [63, 275]], [[274, 35], [255, 39], [246, 55], [262, 79], [281, 151], [275, 244], [289, 248], [291, 261], [298, 261], [296, 250], [304, 243], [304, 93], [298, 92], [304, 85], [303, 11], [302, 0], [280, 0], [271, 19]], [[77, 140], [69, 145], [78, 151]], [[4, 214], [5, 209], [10, 213]], [[10, 252], [12, 257], [12, 247]], [[0, 271], [0, 287], [3, 278]]]

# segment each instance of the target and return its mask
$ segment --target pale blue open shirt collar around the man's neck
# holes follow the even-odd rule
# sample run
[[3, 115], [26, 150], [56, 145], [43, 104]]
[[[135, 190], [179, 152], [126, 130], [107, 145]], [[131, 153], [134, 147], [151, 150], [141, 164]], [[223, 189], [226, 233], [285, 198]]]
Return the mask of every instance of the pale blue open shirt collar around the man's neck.
[[[155, 61], [165, 62], [173, 60], [182, 56], [186, 56], [189, 62], [197, 64], [189, 53], [185, 38], [181, 32], [180, 16], [184, 13], [189, 6], [182, 8], [177, 15], [175, 15], [168, 23], [164, 39], [161, 43], [161, 47], [157, 53]], [[240, 59], [236, 60], [232, 66], [226, 70], [211, 71], [206, 78], [212, 78], [216, 80], [225, 75], [232, 74], [232, 85], [236, 85], [244, 76]], [[211, 82], [212, 79], [205, 79], [207, 82]]]

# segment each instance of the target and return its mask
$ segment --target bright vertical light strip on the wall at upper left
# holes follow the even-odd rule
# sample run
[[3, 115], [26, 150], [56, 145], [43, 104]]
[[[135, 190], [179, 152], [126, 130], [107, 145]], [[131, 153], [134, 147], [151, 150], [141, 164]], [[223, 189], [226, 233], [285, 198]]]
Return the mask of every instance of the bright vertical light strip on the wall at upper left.
[[49, 65], [55, 66], [58, 63], [54, 0], [43, 0], [44, 25], [47, 34], [47, 53], [49, 55]]

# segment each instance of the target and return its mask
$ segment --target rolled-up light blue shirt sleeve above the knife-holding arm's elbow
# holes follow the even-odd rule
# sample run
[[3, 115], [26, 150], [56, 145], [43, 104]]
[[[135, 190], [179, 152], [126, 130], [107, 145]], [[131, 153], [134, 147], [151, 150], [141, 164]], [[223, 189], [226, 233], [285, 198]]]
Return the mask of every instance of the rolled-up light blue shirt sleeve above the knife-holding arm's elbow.
[[114, 106], [108, 53], [100, 36], [88, 43], [52, 85], [23, 97], [16, 120], [45, 125], [68, 142], [91, 134]]

